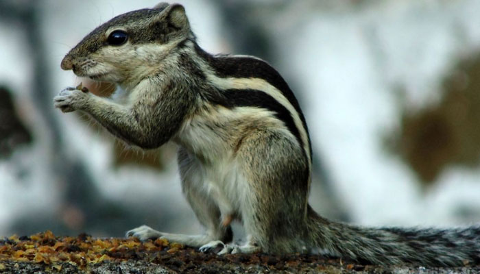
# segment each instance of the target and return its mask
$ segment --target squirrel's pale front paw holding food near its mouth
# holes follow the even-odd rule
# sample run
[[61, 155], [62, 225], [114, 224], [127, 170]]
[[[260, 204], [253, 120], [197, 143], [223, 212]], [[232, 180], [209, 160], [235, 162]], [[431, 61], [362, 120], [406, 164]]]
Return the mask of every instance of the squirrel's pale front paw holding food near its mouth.
[[87, 99], [88, 90], [85, 88], [65, 88], [53, 98], [53, 105], [55, 108], [60, 108], [62, 112], [73, 112], [82, 108]]

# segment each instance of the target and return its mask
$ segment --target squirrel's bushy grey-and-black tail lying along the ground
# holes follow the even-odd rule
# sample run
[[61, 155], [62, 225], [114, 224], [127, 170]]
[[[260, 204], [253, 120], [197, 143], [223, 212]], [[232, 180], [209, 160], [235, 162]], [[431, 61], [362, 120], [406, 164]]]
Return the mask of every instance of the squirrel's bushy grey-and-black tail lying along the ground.
[[328, 221], [309, 208], [309, 238], [322, 252], [370, 264], [480, 264], [480, 227], [365, 228]]

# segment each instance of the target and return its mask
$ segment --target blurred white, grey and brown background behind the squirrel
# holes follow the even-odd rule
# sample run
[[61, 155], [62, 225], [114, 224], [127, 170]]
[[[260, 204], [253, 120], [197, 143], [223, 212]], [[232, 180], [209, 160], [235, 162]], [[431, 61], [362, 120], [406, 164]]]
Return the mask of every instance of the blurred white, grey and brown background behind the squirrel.
[[[201, 47], [259, 56], [296, 93], [317, 212], [360, 225], [480, 223], [480, 1], [178, 2]], [[0, 0], [0, 236], [201, 232], [175, 145], [125, 147], [53, 108], [80, 82], [112, 92], [60, 61], [97, 25], [156, 3]]]

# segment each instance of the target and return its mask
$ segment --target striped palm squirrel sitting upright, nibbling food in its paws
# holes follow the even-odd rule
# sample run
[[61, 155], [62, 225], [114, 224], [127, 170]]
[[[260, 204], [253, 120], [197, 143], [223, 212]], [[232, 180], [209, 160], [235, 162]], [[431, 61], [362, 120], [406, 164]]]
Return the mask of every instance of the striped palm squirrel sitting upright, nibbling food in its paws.
[[[211, 55], [196, 42], [180, 4], [127, 12], [100, 25], [61, 63], [64, 70], [117, 84], [115, 99], [76, 88], [53, 101], [89, 114], [142, 149], [178, 144], [182, 192], [206, 228], [190, 236], [146, 225], [127, 232], [200, 251], [322, 253], [370, 264], [480, 263], [480, 227], [359, 227], [330, 221], [308, 203], [311, 143], [300, 105], [267, 62]], [[240, 221], [246, 239], [232, 241]]]

